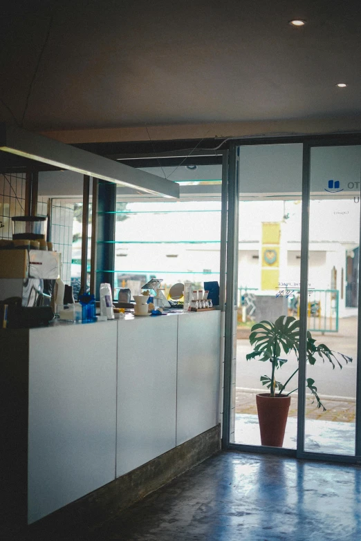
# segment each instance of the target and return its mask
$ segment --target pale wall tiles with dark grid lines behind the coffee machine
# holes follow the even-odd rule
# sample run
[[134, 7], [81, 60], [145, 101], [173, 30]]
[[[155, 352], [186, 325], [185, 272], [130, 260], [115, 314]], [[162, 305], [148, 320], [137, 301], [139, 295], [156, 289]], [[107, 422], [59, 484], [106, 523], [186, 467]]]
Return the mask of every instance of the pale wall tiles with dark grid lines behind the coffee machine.
[[[71, 283], [74, 205], [53, 199], [51, 240], [53, 249], [62, 252], [62, 279]], [[12, 216], [24, 216], [25, 173], [0, 174], [0, 238], [12, 238]], [[37, 213], [46, 216], [48, 198], [39, 198]]]

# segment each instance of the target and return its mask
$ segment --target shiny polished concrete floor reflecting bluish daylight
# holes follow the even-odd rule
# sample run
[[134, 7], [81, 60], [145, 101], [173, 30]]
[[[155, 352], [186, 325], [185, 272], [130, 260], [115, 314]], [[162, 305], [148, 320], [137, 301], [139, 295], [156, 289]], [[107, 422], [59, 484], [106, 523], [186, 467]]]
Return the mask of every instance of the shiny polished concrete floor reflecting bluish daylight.
[[361, 468], [220, 453], [87, 539], [360, 541]]

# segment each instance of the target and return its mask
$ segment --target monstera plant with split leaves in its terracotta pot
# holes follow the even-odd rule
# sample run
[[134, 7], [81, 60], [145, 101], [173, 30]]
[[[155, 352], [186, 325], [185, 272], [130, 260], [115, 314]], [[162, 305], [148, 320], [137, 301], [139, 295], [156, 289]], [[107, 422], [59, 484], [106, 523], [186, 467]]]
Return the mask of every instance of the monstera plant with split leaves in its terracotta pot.
[[[259, 361], [269, 361], [272, 367], [270, 377], [261, 376], [260, 379], [262, 385], [266, 386], [270, 392], [259, 394], [256, 397], [261, 444], [281, 447], [284, 442], [290, 395], [297, 388], [288, 393], [285, 392], [285, 389], [295, 377], [299, 368], [296, 368], [286, 383], [277, 381], [275, 372], [288, 361], [288, 359], [281, 358], [282, 353], [288, 355], [294, 352], [297, 361], [299, 361], [299, 320], [291, 316], [280, 316], [275, 323], [270, 321], [256, 323], [251, 329], [250, 344], [254, 346], [254, 351], [246, 355], [247, 361], [258, 358]], [[307, 331], [306, 357], [311, 365], [314, 365], [317, 358], [320, 358], [323, 362], [328, 360], [333, 368], [335, 368], [336, 364], [342, 368], [338, 356], [342, 357], [346, 363], [352, 362], [351, 357], [331, 351], [325, 344], [315, 345], [315, 339], [312, 338], [311, 332]], [[307, 378], [306, 386], [311, 391], [314, 401], [317, 401], [317, 408], [323, 408], [326, 411], [317, 394], [315, 380]]]

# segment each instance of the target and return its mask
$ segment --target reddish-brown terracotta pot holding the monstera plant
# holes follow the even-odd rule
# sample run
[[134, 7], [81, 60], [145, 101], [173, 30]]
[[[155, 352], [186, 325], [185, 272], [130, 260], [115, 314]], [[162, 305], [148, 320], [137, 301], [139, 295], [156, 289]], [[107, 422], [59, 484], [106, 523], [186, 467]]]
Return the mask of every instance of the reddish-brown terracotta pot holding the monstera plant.
[[256, 395], [256, 404], [261, 431], [261, 444], [281, 447], [290, 408], [290, 397], [270, 397], [269, 393]]

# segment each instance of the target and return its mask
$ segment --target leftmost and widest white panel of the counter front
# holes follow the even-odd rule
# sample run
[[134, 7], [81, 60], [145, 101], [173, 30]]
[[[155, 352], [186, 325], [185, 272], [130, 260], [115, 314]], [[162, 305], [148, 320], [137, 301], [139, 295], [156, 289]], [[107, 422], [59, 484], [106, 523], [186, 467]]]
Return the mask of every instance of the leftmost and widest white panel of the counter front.
[[117, 327], [29, 331], [29, 523], [115, 479]]

